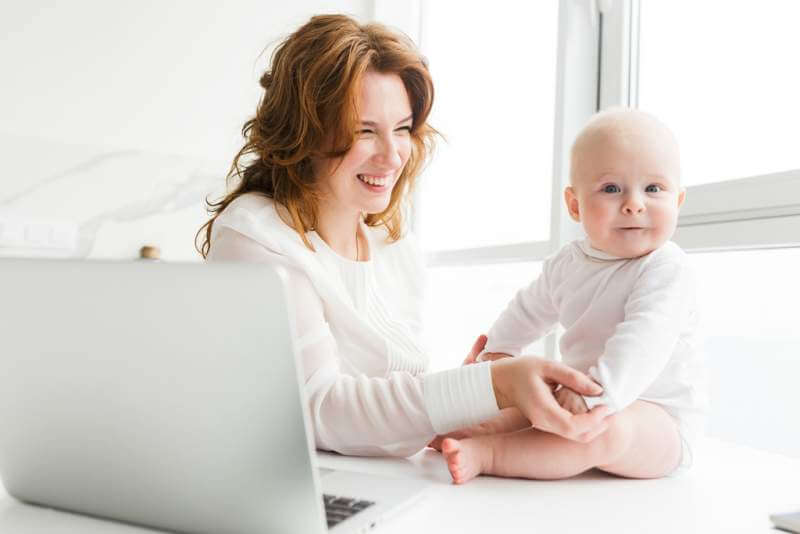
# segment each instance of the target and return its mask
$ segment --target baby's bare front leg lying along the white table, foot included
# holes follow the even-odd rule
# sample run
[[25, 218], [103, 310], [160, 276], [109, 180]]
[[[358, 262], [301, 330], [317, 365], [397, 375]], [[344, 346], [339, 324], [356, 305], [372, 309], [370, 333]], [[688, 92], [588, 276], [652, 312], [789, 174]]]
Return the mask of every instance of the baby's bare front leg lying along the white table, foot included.
[[677, 425], [661, 407], [636, 401], [609, 418], [589, 443], [530, 429], [511, 434], [445, 439], [442, 451], [457, 484], [480, 474], [536, 479], [567, 478], [598, 467], [631, 478], [657, 478], [680, 461]]

